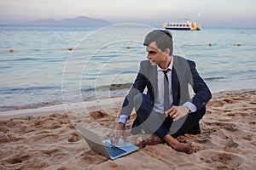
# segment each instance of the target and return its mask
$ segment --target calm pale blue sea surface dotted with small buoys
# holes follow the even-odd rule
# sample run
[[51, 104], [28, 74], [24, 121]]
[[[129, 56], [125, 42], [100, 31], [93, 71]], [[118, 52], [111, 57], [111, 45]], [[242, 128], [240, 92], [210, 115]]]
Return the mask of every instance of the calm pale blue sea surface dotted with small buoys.
[[[152, 29], [0, 26], [0, 111], [123, 97], [146, 59], [143, 38]], [[212, 93], [256, 88], [256, 29], [172, 35], [174, 54], [196, 62]]]

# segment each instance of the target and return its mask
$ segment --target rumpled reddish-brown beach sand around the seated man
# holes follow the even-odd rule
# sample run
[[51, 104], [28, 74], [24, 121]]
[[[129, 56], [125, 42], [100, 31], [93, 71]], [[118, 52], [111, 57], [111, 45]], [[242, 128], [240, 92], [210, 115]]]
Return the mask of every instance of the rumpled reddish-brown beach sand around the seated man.
[[[93, 104], [93, 102], [92, 102]], [[107, 139], [121, 100], [111, 107], [61, 106], [1, 113], [0, 169], [255, 169], [256, 89], [213, 94], [201, 120], [201, 134], [178, 137], [195, 142], [187, 155], [167, 144], [147, 145], [111, 161], [90, 150], [73, 123], [90, 127]], [[89, 107], [88, 107], [89, 108]], [[12, 117], [9, 117], [12, 116]], [[131, 120], [134, 119], [132, 113]], [[131, 122], [127, 127], [131, 127]], [[138, 136], [129, 136], [136, 143]]]

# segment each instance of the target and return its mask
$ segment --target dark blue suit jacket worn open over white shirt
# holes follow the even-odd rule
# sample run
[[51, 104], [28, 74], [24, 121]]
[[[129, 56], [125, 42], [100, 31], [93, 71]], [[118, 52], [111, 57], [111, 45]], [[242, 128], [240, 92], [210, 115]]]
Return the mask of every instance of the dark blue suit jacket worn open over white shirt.
[[[207, 105], [212, 94], [207, 84], [199, 76], [195, 68], [195, 62], [179, 56], [173, 56], [172, 66], [172, 97], [173, 105], [183, 105], [185, 102], [192, 102], [197, 111]], [[194, 90], [195, 96], [190, 99], [189, 84]], [[140, 70], [132, 88], [126, 95], [120, 115], [130, 116], [134, 107], [133, 98], [138, 93], [143, 93], [146, 89], [147, 95], [154, 105], [154, 96], [157, 93], [157, 66], [151, 65], [149, 60], [140, 63]], [[163, 89], [164, 90], [164, 89]]]

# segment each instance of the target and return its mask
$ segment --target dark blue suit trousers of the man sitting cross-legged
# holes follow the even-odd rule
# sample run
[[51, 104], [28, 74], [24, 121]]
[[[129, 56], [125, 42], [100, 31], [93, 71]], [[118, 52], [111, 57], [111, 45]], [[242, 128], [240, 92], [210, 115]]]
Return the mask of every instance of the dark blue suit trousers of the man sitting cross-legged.
[[189, 113], [183, 117], [183, 121], [173, 122], [171, 117], [166, 117], [163, 113], [155, 113], [153, 110], [154, 103], [146, 94], [137, 94], [134, 99], [137, 117], [134, 120], [131, 133], [141, 133], [142, 129], [145, 133], [155, 133], [160, 139], [163, 139], [172, 129], [172, 123], [178, 125], [177, 130], [172, 133], [172, 137], [177, 138], [184, 133], [198, 134], [201, 133], [199, 121], [206, 112], [206, 107], [195, 113]]

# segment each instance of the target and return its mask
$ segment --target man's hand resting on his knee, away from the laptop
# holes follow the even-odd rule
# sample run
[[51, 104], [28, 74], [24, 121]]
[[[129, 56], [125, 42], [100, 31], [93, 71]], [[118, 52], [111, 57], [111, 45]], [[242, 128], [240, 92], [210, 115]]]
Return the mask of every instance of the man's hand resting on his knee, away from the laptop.
[[173, 121], [177, 121], [183, 116], [186, 116], [189, 113], [189, 108], [181, 105], [175, 106], [173, 105], [168, 111], [166, 111], [166, 117], [172, 117]]

